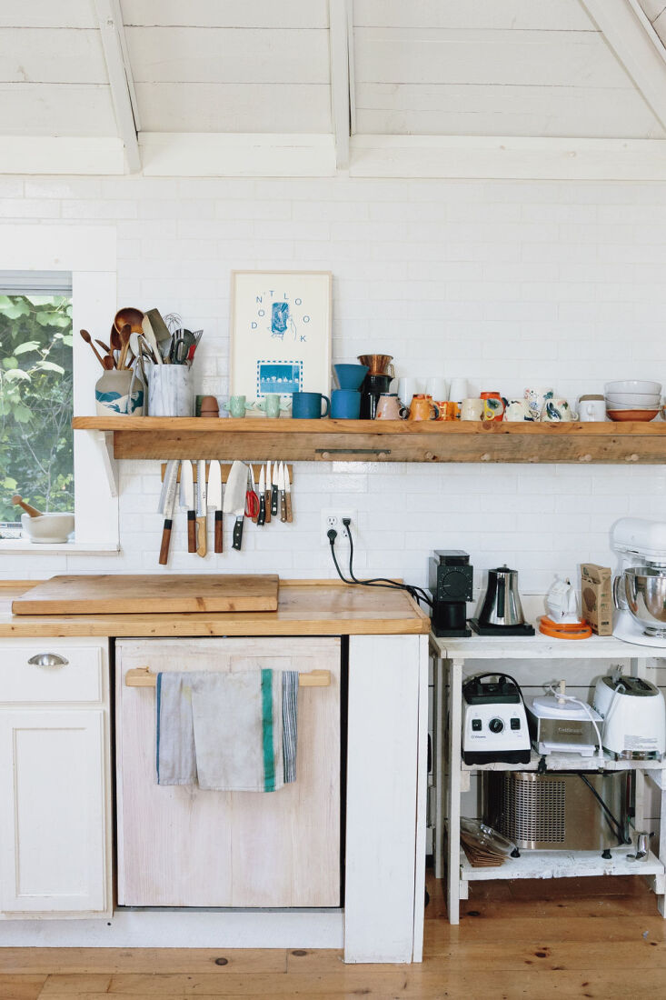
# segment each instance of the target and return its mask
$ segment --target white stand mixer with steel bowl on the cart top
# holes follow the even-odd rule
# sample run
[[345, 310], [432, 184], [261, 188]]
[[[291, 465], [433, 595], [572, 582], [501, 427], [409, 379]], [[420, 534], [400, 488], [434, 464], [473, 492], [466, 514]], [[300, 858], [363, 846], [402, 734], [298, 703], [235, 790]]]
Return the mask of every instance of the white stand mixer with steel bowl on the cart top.
[[639, 646], [666, 648], [666, 522], [623, 517], [611, 529], [619, 555], [613, 635]]

